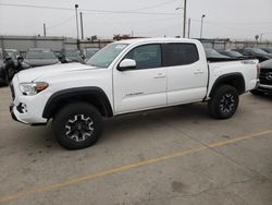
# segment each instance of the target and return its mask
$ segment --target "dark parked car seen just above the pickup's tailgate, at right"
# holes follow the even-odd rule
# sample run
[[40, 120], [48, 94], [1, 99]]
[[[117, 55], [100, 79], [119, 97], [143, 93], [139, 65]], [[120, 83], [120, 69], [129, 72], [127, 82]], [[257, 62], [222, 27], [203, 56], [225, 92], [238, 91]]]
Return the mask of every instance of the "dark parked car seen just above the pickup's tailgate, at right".
[[244, 56], [258, 59], [259, 62], [269, 60], [272, 56], [259, 48], [244, 48], [244, 49], [234, 49], [235, 51], [240, 52]]

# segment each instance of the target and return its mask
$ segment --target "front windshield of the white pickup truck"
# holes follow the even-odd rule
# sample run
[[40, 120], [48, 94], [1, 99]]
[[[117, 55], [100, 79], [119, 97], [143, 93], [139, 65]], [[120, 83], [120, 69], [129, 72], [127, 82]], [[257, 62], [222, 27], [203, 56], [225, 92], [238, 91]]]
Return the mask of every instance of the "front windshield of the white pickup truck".
[[92, 67], [108, 68], [126, 46], [127, 44], [110, 44], [96, 52], [87, 61], [87, 64]]

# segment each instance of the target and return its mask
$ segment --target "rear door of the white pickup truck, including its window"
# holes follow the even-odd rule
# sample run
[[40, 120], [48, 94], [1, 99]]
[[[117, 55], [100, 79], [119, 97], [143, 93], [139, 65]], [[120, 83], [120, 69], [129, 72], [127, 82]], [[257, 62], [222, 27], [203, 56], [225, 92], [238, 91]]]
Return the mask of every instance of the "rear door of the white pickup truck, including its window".
[[208, 64], [200, 59], [198, 48], [190, 43], [163, 45], [168, 73], [168, 105], [201, 100], [207, 93]]

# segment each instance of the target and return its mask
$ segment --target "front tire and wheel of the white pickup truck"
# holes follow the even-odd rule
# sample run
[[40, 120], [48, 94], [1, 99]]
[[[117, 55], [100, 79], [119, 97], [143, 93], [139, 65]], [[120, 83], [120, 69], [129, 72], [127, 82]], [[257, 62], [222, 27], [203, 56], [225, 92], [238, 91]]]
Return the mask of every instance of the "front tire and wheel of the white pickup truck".
[[102, 134], [102, 117], [86, 102], [74, 102], [61, 109], [52, 121], [58, 143], [66, 149], [94, 145]]

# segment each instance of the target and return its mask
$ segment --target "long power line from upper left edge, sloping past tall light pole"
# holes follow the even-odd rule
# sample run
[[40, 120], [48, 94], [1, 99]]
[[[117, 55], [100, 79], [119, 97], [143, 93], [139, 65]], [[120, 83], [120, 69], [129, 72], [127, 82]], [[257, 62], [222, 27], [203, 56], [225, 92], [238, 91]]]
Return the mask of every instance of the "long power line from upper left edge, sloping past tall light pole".
[[[48, 7], [48, 5], [12, 4], [12, 3], [0, 3], [0, 5], [3, 5], [3, 7], [16, 7], [16, 8], [33, 8], [33, 9], [74, 11], [74, 9], [72, 9], [72, 8], [60, 8], [60, 7]], [[81, 11], [91, 12], [91, 13], [103, 13], [103, 14], [109, 13], [109, 14], [176, 15], [176, 14], [173, 14], [173, 13], [163, 13], [163, 12], [137, 12], [137, 11], [113, 11], [113, 10], [90, 10], [90, 9], [81, 9]]]

